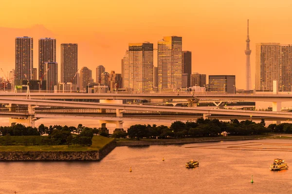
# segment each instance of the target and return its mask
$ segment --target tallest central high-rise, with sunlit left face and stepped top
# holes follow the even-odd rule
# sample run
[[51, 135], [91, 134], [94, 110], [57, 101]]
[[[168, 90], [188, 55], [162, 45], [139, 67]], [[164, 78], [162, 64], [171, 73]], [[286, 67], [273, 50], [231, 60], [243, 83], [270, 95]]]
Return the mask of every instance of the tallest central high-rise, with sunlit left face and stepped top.
[[182, 37], [164, 36], [158, 41], [158, 90], [175, 91], [182, 87]]

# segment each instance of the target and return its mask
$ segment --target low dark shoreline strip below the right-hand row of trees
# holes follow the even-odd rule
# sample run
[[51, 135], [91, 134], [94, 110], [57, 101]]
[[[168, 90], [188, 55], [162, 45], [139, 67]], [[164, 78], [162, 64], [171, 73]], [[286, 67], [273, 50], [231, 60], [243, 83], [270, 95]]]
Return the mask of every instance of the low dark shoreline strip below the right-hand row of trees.
[[151, 146], [151, 145], [182, 145], [203, 142], [219, 142], [219, 141], [241, 141], [266, 139], [267, 135], [252, 136], [227, 136], [227, 137], [198, 137], [198, 138], [182, 138], [182, 139], [141, 139], [141, 140], [116, 140], [116, 146]]

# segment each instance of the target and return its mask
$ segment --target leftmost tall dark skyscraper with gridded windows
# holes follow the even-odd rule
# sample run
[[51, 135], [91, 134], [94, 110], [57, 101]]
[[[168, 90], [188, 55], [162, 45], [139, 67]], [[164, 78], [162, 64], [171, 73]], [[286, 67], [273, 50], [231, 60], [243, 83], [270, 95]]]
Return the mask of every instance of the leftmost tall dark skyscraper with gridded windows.
[[23, 36], [15, 38], [15, 74], [16, 80], [31, 80], [34, 67], [34, 40]]

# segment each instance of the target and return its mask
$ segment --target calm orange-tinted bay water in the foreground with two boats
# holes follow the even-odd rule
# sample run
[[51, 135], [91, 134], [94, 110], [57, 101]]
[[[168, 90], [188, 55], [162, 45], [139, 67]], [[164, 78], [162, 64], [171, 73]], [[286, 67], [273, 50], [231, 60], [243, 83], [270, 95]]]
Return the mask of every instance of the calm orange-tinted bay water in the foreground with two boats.
[[[246, 142], [116, 147], [101, 162], [0, 162], [0, 194], [291, 194], [292, 170], [269, 169], [278, 157], [292, 165], [291, 152], [185, 148]], [[191, 159], [200, 166], [184, 168]]]

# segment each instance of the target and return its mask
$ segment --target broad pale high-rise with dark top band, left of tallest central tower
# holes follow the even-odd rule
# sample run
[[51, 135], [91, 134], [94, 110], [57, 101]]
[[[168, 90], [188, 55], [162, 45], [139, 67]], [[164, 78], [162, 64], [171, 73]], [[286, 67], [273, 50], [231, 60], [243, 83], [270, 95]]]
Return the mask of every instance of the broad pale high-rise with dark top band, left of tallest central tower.
[[[125, 64], [125, 59], [124, 59]], [[125, 68], [125, 66], [124, 66]], [[133, 91], [151, 92], [153, 90], [153, 44], [130, 43], [128, 50], [128, 88]], [[126, 87], [126, 86], [124, 86]]]

